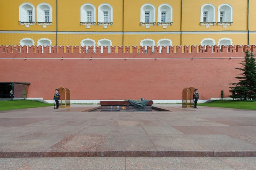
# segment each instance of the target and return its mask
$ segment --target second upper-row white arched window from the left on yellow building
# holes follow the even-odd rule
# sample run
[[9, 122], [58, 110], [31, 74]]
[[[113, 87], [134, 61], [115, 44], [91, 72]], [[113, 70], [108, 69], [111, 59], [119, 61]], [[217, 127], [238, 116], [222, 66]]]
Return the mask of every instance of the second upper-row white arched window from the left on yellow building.
[[40, 3], [36, 7], [36, 23], [43, 28], [52, 25], [52, 6], [48, 3]]

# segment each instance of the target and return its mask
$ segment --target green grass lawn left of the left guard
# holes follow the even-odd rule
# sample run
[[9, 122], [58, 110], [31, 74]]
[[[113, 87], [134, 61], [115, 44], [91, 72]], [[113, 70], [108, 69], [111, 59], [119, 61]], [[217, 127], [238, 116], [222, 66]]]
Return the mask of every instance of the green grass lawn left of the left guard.
[[13, 109], [26, 109], [34, 107], [47, 107], [53, 104], [45, 104], [40, 101], [29, 101], [29, 100], [12, 100], [12, 101], [0, 101], [1, 110], [13, 110]]

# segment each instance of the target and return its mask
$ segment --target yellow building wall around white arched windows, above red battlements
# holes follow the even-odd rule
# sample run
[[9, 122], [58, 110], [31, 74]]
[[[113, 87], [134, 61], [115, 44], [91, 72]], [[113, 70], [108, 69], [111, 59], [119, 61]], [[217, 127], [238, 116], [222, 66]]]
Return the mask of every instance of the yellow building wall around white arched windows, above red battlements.
[[[32, 3], [35, 6], [35, 21], [36, 21], [36, 7], [40, 3], [49, 3], [52, 6], [52, 26], [43, 28], [42, 26], [35, 25], [20, 26], [19, 21], [19, 6], [22, 3]], [[0, 20], [0, 31], [14, 31], [14, 33], [0, 32], [0, 44], [4, 45], [17, 45], [23, 38], [31, 38], [37, 41], [41, 38], [48, 38], [52, 41], [52, 45], [56, 44], [56, 0], [19, 0], [13, 2], [12, 0], [1, 1], [0, 15], [4, 16]], [[80, 25], [80, 8], [84, 3], [92, 3], [96, 7], [96, 22], [98, 21], [98, 6], [102, 3], [108, 3], [113, 7], [113, 26], [108, 26], [107, 29], [103, 29], [103, 26], [91, 26], [90, 29], [86, 29], [86, 26]], [[156, 26], [150, 26], [150, 29], [146, 29], [145, 26], [140, 26], [140, 8], [145, 3], [151, 3], [155, 7], [156, 13]], [[163, 29], [163, 26], [157, 26], [157, 8], [163, 3], [168, 3], [173, 9], [173, 25], [167, 26], [167, 29]], [[227, 26], [226, 29], [222, 26], [210, 26], [207, 29], [205, 26], [200, 26], [200, 11], [201, 6], [205, 3], [211, 3], [215, 6], [215, 21], [217, 22], [217, 9], [218, 6], [223, 3], [228, 3], [233, 7], [233, 25]], [[250, 31], [256, 32], [256, 1], [250, 0]], [[181, 0], [166, 1], [166, 0], [125, 0], [125, 18], [124, 18], [124, 31], [134, 32], [134, 34], [124, 35], [124, 43], [126, 46], [139, 46], [140, 41], [143, 39], [152, 39], [157, 45], [157, 41], [163, 38], [172, 40], [172, 45], [180, 45], [180, 7]], [[217, 45], [218, 40], [224, 37], [230, 38], [233, 44], [247, 44], [247, 0], [208, 0], [195, 1], [183, 0], [183, 18], [182, 18], [182, 30], [188, 31], [200, 31], [201, 34], [186, 34], [182, 35], [183, 45], [200, 45], [201, 40], [204, 38], [215, 39]], [[15, 33], [15, 31], [37, 31], [35, 33]], [[49, 31], [50, 34], [38, 34], [39, 31]], [[85, 38], [91, 38], [96, 41], [100, 39], [109, 39], [112, 41], [113, 46], [122, 45], [122, 0], [76, 0], [70, 2], [70, 0], [58, 0], [58, 45], [80, 45], [81, 40]], [[67, 34], [62, 33], [67, 31]], [[157, 32], [175, 32], [175, 34], [158, 34]], [[207, 31], [243, 31], [242, 33], [234, 32], [234, 34], [210, 34]], [[74, 32], [74, 33], [72, 33]], [[92, 34], [80, 34], [79, 32], [92, 32]], [[101, 34], [93, 34], [94, 32], [100, 32]], [[119, 32], [119, 34], [103, 34], [102, 32]], [[141, 33], [140, 33], [141, 32]], [[148, 34], [147, 34], [148, 32]], [[150, 33], [149, 33], [150, 32]], [[155, 32], [155, 33], [154, 33]], [[205, 32], [205, 33], [204, 33]], [[204, 34], [203, 34], [204, 33]], [[231, 32], [232, 33], [232, 32]], [[250, 44], [256, 44], [256, 34], [250, 33]]]

